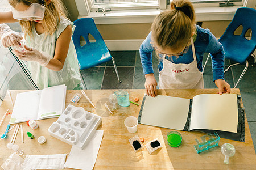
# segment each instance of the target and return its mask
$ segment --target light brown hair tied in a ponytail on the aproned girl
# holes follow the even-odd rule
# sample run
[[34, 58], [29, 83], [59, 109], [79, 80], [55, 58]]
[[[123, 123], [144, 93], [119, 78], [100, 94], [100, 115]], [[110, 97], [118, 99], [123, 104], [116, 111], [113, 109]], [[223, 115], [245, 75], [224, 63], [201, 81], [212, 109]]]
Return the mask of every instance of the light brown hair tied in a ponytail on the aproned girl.
[[160, 48], [186, 46], [195, 32], [195, 11], [189, 0], [173, 0], [171, 10], [156, 16], [152, 27], [153, 44]]

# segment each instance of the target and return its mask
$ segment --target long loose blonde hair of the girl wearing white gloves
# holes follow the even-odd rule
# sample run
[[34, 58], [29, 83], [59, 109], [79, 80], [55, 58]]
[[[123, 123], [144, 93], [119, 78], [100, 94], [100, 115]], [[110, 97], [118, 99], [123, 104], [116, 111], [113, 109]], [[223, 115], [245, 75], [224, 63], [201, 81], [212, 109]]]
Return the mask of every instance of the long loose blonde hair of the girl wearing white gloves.
[[[18, 3], [23, 3], [24, 5], [30, 6], [31, 3], [39, 3], [42, 4], [42, 0], [9, 0], [9, 3], [14, 8]], [[67, 18], [67, 10], [63, 5], [63, 2], [60, 0], [51, 0], [49, 5], [45, 2], [44, 5], [46, 6], [46, 11], [44, 12], [43, 18], [43, 28], [46, 32], [46, 35], [53, 35], [56, 31], [57, 26], [60, 23], [60, 16]], [[25, 37], [28, 35], [32, 38], [32, 30], [34, 28], [33, 21], [19, 21], [20, 25], [22, 26], [22, 31], [24, 32]]]

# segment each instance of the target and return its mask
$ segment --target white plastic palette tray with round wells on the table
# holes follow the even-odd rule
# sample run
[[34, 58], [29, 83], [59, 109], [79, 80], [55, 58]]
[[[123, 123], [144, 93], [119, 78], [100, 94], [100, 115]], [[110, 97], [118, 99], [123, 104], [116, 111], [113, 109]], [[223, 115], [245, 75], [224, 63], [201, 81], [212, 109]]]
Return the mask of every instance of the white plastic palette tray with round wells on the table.
[[101, 121], [100, 116], [69, 104], [48, 132], [63, 142], [83, 149]]

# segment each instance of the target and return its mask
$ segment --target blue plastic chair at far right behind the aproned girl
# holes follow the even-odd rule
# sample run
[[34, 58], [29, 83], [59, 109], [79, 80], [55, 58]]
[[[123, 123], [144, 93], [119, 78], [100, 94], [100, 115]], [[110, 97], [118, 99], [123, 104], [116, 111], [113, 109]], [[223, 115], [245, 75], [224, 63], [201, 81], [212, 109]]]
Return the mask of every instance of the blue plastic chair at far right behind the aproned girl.
[[[240, 25], [243, 27], [241, 35], [234, 35], [234, 32]], [[245, 34], [250, 28], [251, 34], [248, 40]], [[230, 61], [235, 62], [230, 65], [224, 73], [228, 71], [231, 66], [245, 63], [245, 69], [243, 69], [237, 83], [234, 84], [234, 88], [236, 88], [248, 68], [249, 64], [247, 59], [253, 55], [256, 48], [256, 10], [253, 8], [238, 8], [228, 28], [226, 28], [226, 31], [218, 41], [224, 46], [225, 59], [230, 59]], [[210, 54], [207, 57], [207, 61], [209, 57]], [[253, 57], [255, 58], [254, 55]], [[205, 61], [205, 65], [207, 61]]]

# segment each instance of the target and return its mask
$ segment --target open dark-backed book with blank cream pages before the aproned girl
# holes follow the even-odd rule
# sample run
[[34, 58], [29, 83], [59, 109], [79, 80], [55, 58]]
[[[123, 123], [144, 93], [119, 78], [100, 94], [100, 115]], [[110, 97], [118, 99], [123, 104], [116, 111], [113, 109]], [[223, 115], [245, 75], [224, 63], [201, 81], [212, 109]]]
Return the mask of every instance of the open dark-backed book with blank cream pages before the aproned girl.
[[244, 129], [244, 121], [243, 127], [238, 127], [241, 111], [236, 94], [201, 94], [193, 99], [144, 96], [138, 121], [141, 124], [184, 131], [208, 130], [207, 133], [210, 133], [209, 130], [214, 130], [228, 133], [228, 136], [239, 132], [239, 138], [234, 140], [240, 141], [240, 129]]

